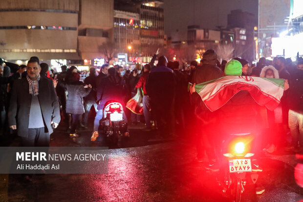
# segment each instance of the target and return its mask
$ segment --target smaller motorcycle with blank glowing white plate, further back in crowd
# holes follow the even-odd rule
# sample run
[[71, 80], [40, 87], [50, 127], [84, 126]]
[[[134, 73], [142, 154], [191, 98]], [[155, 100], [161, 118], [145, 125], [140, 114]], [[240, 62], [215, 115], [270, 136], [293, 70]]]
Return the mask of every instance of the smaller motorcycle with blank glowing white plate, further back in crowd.
[[125, 122], [124, 109], [121, 103], [110, 100], [103, 108], [103, 118], [100, 120], [99, 130], [108, 142], [121, 146], [122, 137], [129, 136]]

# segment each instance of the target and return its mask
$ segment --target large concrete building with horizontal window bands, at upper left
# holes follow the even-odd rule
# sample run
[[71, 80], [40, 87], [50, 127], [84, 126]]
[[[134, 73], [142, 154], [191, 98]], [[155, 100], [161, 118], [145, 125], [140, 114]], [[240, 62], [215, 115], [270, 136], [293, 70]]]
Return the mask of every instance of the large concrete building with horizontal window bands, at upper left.
[[1, 0], [0, 57], [79, 61], [113, 41], [113, 0]]

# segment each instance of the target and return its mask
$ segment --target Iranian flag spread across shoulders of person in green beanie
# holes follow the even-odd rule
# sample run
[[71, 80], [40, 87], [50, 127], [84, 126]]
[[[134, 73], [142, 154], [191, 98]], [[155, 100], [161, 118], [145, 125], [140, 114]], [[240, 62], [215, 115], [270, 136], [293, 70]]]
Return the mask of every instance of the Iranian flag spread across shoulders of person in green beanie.
[[195, 90], [212, 112], [225, 105], [240, 90], [248, 91], [259, 105], [274, 110], [280, 104], [284, 91], [284, 80], [251, 76], [225, 76], [197, 84]]

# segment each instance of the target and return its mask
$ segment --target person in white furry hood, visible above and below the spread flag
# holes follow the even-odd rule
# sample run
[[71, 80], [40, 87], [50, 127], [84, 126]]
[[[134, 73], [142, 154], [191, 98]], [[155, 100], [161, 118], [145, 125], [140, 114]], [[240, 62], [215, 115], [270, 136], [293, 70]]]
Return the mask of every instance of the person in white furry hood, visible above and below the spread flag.
[[[263, 67], [260, 73], [260, 77], [274, 79], [280, 78], [278, 70], [273, 66]], [[273, 153], [277, 151], [277, 147], [283, 135], [281, 104], [274, 111], [270, 111], [268, 109], [266, 110], [268, 117], [268, 128], [266, 129], [266, 134], [268, 134], [268, 138], [265, 139], [265, 141], [267, 141], [267, 146], [263, 149], [263, 151]]]

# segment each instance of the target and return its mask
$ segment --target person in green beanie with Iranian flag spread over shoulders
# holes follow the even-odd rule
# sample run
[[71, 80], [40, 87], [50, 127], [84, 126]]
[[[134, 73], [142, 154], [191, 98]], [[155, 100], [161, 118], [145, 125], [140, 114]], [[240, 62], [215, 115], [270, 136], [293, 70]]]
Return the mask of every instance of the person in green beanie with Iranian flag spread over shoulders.
[[[265, 127], [262, 121], [266, 120], [265, 107], [274, 110], [280, 104], [283, 91], [289, 88], [288, 82], [241, 76], [242, 65], [237, 60], [229, 61], [224, 73], [225, 77], [189, 87], [197, 105], [195, 114], [206, 128], [204, 131], [207, 135], [204, 136], [216, 149], [228, 135], [250, 133], [255, 135], [255, 145], [260, 146], [258, 137]], [[207, 169], [218, 171], [218, 157], [214, 159], [214, 154], [209, 159]], [[257, 166], [253, 166], [253, 171], [262, 171], [258, 163], [254, 164]], [[257, 194], [263, 192], [263, 188], [256, 190]]]

